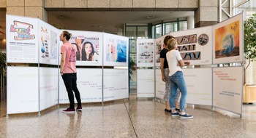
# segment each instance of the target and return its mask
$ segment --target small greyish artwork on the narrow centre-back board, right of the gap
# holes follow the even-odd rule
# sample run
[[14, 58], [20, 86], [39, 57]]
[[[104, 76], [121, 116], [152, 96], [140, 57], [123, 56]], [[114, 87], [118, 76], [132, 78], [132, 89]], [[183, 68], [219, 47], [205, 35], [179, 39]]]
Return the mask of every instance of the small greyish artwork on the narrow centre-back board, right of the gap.
[[153, 42], [138, 43], [138, 62], [152, 63], [154, 61]]

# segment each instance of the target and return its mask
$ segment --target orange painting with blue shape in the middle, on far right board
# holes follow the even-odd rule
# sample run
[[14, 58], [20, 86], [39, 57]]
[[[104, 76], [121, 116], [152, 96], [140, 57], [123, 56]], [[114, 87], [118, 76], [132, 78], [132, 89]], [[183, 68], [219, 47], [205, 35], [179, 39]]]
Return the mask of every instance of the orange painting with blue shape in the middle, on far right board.
[[239, 20], [215, 29], [215, 59], [239, 55]]

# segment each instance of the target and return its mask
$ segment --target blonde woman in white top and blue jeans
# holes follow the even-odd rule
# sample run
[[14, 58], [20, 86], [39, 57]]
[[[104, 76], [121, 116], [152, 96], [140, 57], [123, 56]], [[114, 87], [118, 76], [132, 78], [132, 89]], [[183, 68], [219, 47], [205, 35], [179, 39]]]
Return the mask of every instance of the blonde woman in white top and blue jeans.
[[[170, 82], [170, 108], [172, 110], [172, 116], [178, 116], [180, 118], [193, 118], [192, 115], [185, 113], [185, 105], [187, 98], [187, 86], [183, 77], [181, 68], [184, 66], [184, 61], [182, 60], [181, 54], [177, 49], [177, 41], [175, 39], [170, 39], [167, 41], [167, 48], [169, 52], [166, 54], [166, 59], [169, 66], [169, 82]], [[189, 65], [189, 62], [186, 62]], [[175, 109], [175, 97], [177, 89], [181, 91], [180, 100], [180, 113], [176, 112]]]

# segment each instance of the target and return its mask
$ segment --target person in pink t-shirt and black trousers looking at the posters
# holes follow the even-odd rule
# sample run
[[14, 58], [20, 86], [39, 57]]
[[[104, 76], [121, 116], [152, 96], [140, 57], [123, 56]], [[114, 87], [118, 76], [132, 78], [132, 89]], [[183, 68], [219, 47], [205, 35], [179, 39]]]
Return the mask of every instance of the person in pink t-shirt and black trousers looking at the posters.
[[63, 110], [63, 113], [74, 113], [75, 112], [75, 98], [78, 101], [78, 107], [76, 110], [82, 110], [82, 104], [80, 99], [80, 92], [77, 87], [77, 70], [75, 67], [76, 63], [76, 47], [69, 43], [71, 33], [68, 31], [63, 31], [61, 36], [59, 36], [60, 41], [63, 42], [61, 46], [61, 77], [67, 89], [67, 94], [69, 97], [69, 107]]

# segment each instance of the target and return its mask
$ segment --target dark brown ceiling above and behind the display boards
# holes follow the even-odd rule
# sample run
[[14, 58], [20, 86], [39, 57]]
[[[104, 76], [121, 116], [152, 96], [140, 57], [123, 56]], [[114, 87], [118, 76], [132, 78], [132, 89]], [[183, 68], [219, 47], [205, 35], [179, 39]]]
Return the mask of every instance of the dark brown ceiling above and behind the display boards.
[[[6, 34], [6, 11], [0, 11], [0, 25]], [[124, 23], [129, 25], [146, 25], [148, 23], [161, 23], [186, 19], [194, 16], [194, 12], [89, 12], [48, 11], [48, 23], [58, 28], [78, 31], [99, 31], [105, 33], [122, 32]], [[6, 38], [0, 35], [0, 38]]]

